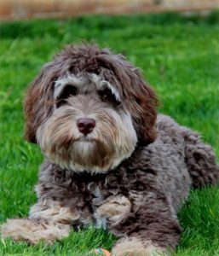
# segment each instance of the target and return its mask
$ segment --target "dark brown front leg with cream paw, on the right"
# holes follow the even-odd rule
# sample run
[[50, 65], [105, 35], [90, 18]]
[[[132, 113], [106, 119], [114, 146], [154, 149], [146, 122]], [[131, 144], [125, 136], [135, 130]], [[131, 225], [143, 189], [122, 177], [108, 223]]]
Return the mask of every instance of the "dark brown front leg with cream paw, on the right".
[[130, 196], [129, 213], [127, 199], [126, 212], [109, 222], [109, 229], [120, 237], [112, 248], [113, 256], [168, 255], [176, 247], [181, 229], [170, 201], [158, 192], [140, 193]]

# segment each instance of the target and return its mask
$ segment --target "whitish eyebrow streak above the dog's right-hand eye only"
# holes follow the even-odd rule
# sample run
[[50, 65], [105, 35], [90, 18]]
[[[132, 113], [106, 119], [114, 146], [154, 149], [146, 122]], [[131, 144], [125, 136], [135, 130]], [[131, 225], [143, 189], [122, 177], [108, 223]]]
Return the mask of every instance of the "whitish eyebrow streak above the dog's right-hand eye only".
[[95, 73], [89, 73], [89, 77], [93, 83], [95, 83], [97, 90], [105, 90], [109, 89], [111, 90], [112, 94], [116, 97], [116, 100], [118, 102], [121, 102], [121, 98], [119, 96], [118, 90], [115, 86], [110, 84], [107, 80], [101, 79], [98, 75]]

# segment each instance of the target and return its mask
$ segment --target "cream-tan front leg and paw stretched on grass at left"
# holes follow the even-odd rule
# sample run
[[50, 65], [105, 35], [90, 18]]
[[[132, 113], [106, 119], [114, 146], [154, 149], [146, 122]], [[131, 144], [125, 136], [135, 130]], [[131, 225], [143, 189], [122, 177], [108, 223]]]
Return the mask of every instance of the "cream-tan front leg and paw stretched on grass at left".
[[31, 208], [29, 218], [9, 219], [2, 226], [2, 236], [15, 241], [36, 244], [39, 241], [52, 243], [68, 236], [71, 224], [78, 221], [80, 214], [65, 207], [59, 201], [38, 201]]

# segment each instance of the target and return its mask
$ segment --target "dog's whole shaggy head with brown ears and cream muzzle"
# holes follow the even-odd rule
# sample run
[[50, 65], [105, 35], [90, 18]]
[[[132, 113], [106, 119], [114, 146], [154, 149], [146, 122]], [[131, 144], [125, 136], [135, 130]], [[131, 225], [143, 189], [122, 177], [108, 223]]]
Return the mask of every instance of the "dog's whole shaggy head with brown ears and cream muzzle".
[[68, 46], [26, 95], [26, 138], [52, 163], [107, 172], [156, 137], [157, 98], [138, 69], [94, 44]]

